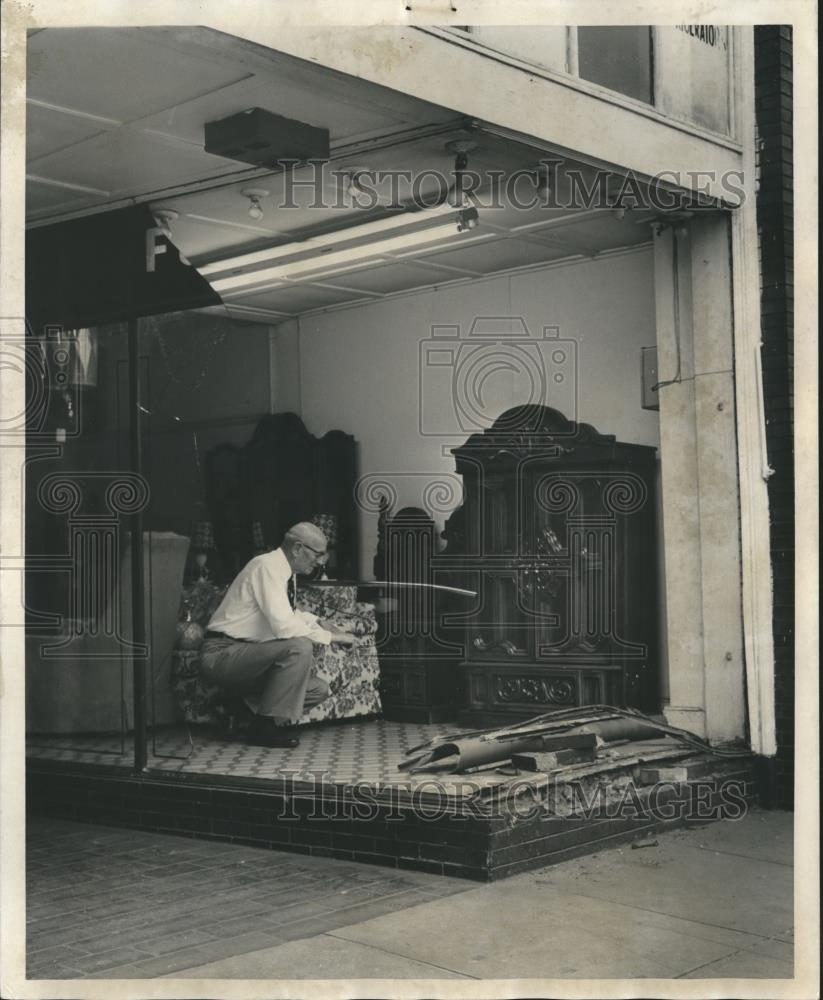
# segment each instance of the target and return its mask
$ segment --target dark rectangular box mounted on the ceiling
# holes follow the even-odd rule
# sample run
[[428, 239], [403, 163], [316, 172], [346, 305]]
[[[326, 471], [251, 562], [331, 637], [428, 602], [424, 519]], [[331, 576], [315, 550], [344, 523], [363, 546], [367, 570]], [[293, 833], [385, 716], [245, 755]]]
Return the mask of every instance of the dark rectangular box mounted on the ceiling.
[[329, 131], [263, 108], [249, 108], [206, 122], [205, 150], [256, 167], [273, 167], [281, 160], [328, 160]]

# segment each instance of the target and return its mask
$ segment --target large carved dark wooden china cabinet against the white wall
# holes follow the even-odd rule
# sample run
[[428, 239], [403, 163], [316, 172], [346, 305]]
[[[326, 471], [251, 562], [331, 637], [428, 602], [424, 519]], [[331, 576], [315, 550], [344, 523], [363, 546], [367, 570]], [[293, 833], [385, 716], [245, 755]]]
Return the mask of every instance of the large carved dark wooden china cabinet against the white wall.
[[655, 449], [524, 406], [454, 455], [464, 502], [434, 562], [478, 592], [460, 616], [460, 721], [656, 711]]

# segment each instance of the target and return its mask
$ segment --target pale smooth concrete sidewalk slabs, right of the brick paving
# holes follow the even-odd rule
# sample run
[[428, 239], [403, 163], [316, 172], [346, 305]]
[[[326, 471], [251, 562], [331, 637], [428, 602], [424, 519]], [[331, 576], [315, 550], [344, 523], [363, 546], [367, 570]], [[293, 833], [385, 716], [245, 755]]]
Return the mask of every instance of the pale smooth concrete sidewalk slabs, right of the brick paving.
[[174, 975], [790, 978], [791, 815], [758, 811], [657, 840]]

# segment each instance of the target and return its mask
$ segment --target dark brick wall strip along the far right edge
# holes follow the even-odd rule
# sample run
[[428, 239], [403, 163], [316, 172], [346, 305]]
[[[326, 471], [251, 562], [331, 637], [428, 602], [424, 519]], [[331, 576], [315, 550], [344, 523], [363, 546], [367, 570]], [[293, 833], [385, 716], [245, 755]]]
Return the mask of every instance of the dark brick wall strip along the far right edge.
[[790, 808], [794, 781], [794, 468], [792, 389], [793, 196], [792, 29], [754, 30], [757, 224], [766, 445], [774, 584], [777, 759], [765, 775], [768, 804]]

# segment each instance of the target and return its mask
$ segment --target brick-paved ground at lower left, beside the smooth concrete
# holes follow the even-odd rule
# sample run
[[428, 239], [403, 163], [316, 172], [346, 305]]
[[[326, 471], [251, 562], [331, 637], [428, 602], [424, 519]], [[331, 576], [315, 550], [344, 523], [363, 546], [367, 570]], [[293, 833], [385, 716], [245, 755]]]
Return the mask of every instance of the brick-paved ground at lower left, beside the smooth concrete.
[[149, 978], [464, 892], [442, 875], [32, 817], [34, 979]]

